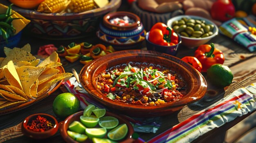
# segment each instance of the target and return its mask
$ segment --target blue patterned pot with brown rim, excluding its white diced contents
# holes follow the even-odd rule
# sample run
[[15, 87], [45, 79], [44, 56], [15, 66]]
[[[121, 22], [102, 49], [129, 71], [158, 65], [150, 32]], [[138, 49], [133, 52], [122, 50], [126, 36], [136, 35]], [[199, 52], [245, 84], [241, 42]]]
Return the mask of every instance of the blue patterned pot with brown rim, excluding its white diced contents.
[[[123, 18], [127, 16], [133, 20], [132, 24], [120, 26], [112, 24], [110, 20], [115, 18]], [[140, 18], [134, 13], [119, 11], [108, 13], [103, 17], [103, 22], [99, 25], [97, 37], [106, 44], [112, 45], [117, 50], [126, 50], [135, 48], [143, 40], [145, 40], [146, 31]]]

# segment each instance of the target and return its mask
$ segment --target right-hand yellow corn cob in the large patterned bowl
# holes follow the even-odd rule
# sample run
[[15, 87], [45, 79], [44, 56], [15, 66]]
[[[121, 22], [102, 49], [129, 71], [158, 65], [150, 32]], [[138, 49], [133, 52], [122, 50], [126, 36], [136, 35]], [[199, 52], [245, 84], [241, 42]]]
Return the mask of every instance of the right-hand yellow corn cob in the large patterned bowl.
[[68, 9], [74, 13], [80, 13], [96, 8], [94, 0], [71, 0]]

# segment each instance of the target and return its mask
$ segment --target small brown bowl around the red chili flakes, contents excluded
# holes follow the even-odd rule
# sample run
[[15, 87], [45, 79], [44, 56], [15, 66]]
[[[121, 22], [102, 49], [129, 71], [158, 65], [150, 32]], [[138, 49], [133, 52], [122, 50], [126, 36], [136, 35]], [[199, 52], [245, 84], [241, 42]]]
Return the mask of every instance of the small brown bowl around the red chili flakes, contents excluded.
[[[54, 121], [54, 124], [56, 125], [55, 128], [51, 128], [49, 130], [46, 130], [45, 132], [36, 132], [36, 131], [32, 131], [32, 130], [28, 130], [26, 128], [28, 121], [32, 118], [32, 117], [37, 117], [38, 115], [40, 116], [47, 116], [49, 118], [51, 118]], [[49, 118], [47, 120], [49, 120]], [[26, 122], [25, 122], [26, 121]], [[58, 131], [58, 121], [56, 120], [56, 118], [54, 118], [52, 115], [50, 114], [45, 114], [45, 113], [37, 113], [37, 114], [31, 114], [28, 117], [26, 117], [24, 119], [24, 121], [22, 122], [22, 132], [27, 135], [27, 136], [33, 136], [32, 138], [36, 139], [36, 138], [40, 138], [40, 139], [45, 139], [47, 137], [50, 137], [52, 135], [54, 135], [57, 131]]]

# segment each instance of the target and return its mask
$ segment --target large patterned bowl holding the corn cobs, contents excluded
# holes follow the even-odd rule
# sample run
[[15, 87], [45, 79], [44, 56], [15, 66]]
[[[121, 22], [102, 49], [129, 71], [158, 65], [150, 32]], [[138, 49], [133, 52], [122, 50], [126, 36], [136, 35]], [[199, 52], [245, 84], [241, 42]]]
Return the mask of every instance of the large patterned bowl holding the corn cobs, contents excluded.
[[[4, 0], [5, 4], [10, 4]], [[34, 10], [13, 6], [13, 10], [31, 20], [27, 30], [43, 39], [75, 39], [95, 35], [103, 15], [116, 11], [121, 0], [110, 0], [102, 8], [92, 9], [82, 13], [41, 13]]]

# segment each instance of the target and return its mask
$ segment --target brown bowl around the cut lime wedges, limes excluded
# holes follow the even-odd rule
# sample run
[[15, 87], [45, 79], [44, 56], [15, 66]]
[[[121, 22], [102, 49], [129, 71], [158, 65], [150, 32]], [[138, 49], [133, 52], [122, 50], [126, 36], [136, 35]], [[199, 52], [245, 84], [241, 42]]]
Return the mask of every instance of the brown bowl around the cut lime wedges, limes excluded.
[[[77, 141], [75, 141], [74, 139], [72, 139], [68, 134], [67, 134], [67, 129], [68, 129], [68, 126], [70, 125], [71, 122], [73, 121], [76, 121], [74, 120], [73, 118], [74, 117], [80, 117], [83, 115], [83, 111], [80, 111], [80, 112], [76, 112], [72, 115], [70, 115], [69, 117], [67, 117], [64, 121], [60, 122], [60, 133], [61, 133], [61, 136], [62, 138], [67, 142], [67, 143], [79, 143]], [[132, 143], [133, 139], [131, 138], [132, 134], [134, 133], [134, 130], [133, 130], [133, 127], [132, 125], [130, 124], [129, 121], [127, 121], [126, 119], [124, 119], [124, 117], [122, 116], [119, 116], [117, 114], [114, 114], [114, 113], [111, 113], [111, 112], [108, 112], [106, 111], [106, 114], [104, 117], [106, 116], [112, 116], [112, 117], [115, 117], [119, 120], [119, 125], [120, 125], [120, 122], [121, 123], [126, 123], [127, 127], [128, 127], [128, 133], [127, 133], [127, 137], [126, 139], [124, 140], [121, 140], [121, 142], [119, 143]], [[88, 139], [85, 141], [86, 143], [90, 142], [88, 141]], [[92, 141], [91, 141], [92, 142]]]

